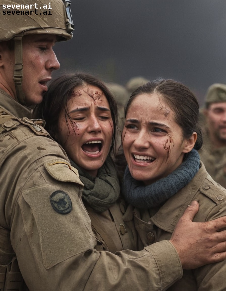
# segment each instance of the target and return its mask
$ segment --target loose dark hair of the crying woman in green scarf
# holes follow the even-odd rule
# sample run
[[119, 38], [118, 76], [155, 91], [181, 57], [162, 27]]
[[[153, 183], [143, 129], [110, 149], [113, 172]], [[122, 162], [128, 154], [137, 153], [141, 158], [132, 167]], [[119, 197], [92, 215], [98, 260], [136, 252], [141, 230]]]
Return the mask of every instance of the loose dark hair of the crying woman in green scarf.
[[45, 93], [43, 101], [35, 107], [33, 117], [44, 119], [46, 122], [45, 129], [53, 138], [55, 138], [58, 132], [58, 119], [62, 109], [65, 109], [65, 117], [67, 117], [66, 122], [67, 119], [69, 119], [72, 123], [68, 113], [67, 101], [73, 95], [73, 89], [78, 86], [86, 85], [98, 87], [103, 91], [107, 98], [114, 126], [112, 137], [114, 142], [111, 146], [112, 150], [114, 144], [116, 143], [116, 120], [118, 118], [117, 104], [105, 83], [97, 77], [94, 77], [92, 74], [64, 74], [52, 81], [48, 86], [48, 91]]

